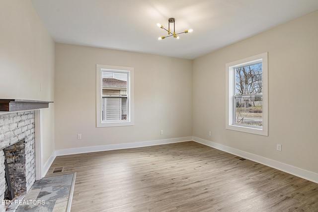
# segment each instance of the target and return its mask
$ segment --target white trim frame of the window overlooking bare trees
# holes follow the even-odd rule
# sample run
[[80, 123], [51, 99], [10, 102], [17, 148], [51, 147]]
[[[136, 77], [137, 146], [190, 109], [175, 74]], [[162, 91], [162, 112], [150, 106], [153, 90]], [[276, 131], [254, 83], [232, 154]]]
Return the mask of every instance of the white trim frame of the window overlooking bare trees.
[[[235, 68], [241, 67], [244, 64], [250, 64], [256, 61], [262, 62], [262, 82], [263, 82], [263, 123], [262, 129], [252, 128], [248, 126], [241, 126], [234, 124], [234, 82], [235, 82]], [[268, 64], [267, 52], [244, 58], [226, 64], [226, 129], [235, 130], [245, 133], [268, 136]]]

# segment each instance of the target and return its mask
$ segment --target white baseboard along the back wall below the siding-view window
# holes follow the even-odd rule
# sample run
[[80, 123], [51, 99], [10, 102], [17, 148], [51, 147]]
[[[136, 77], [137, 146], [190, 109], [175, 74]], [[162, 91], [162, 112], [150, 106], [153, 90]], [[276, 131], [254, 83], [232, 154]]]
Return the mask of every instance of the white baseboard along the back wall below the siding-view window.
[[80, 154], [80, 153], [97, 152], [97, 151], [109, 151], [109, 150], [116, 150], [116, 149], [137, 148], [137, 147], [144, 147], [144, 146], [177, 143], [177, 142], [183, 142], [183, 141], [192, 141], [192, 137], [164, 139], [164, 140], [156, 140], [156, 141], [142, 141], [142, 142], [133, 142], [133, 143], [109, 144], [109, 145], [101, 145], [101, 146], [86, 146], [86, 147], [69, 148], [69, 149], [58, 149], [55, 152], [56, 152], [56, 156], [60, 156], [60, 155]]

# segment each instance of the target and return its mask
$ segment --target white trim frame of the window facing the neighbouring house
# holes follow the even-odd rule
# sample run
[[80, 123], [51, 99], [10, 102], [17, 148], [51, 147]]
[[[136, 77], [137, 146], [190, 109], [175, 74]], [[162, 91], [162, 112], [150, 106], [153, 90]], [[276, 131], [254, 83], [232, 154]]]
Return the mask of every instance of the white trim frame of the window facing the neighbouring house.
[[[110, 71], [129, 71], [129, 80], [127, 83], [127, 92], [129, 101], [129, 106], [127, 108], [129, 118], [125, 121], [114, 121], [114, 122], [103, 122], [102, 121], [102, 70]], [[121, 67], [121, 66], [108, 66], [108, 65], [96, 65], [96, 127], [120, 127], [120, 126], [133, 126], [134, 125], [134, 68], [131, 67]]]

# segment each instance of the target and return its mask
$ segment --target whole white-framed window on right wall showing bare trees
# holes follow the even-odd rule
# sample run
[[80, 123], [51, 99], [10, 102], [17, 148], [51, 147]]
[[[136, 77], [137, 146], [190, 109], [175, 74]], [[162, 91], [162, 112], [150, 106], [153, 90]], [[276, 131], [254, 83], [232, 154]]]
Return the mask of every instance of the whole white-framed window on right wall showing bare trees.
[[267, 136], [267, 52], [226, 64], [226, 78], [226, 129]]

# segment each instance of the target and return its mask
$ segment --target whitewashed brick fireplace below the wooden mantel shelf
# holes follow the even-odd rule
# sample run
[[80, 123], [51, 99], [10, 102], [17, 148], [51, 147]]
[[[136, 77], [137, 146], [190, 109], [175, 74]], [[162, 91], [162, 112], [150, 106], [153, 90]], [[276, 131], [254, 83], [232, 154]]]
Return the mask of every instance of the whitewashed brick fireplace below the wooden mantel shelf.
[[[8, 167], [14, 193], [28, 192], [35, 182], [34, 135], [34, 111], [0, 114], [0, 201], [4, 200], [7, 189], [3, 148], [7, 150], [7, 162], [10, 162]], [[0, 204], [0, 211], [5, 211], [4, 205]]]

